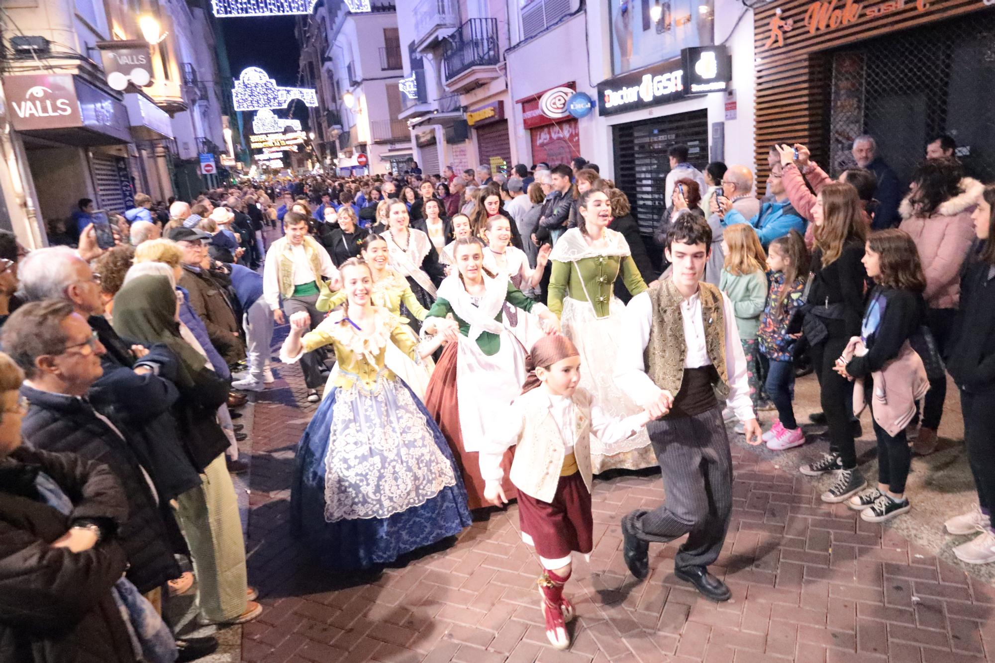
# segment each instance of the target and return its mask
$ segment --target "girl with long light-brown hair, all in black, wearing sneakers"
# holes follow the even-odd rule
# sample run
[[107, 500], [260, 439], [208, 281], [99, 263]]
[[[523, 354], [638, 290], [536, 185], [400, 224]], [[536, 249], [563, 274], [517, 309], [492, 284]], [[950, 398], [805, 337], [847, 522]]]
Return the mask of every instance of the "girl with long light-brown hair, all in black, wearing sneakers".
[[800, 469], [810, 477], [836, 473], [836, 481], [822, 494], [829, 503], [844, 502], [867, 485], [854, 448], [853, 383], [834, 369], [850, 338], [861, 335], [867, 281], [861, 261], [868, 232], [862, 212], [857, 189], [839, 182], [823, 187], [812, 207], [815, 251], [803, 333], [821, 387], [829, 453]]

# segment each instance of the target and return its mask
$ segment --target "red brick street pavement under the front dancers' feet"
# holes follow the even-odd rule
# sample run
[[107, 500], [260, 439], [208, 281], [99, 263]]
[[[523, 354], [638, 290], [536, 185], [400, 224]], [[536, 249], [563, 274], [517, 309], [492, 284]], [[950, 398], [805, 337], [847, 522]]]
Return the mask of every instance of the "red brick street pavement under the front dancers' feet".
[[673, 575], [680, 542], [651, 548], [637, 583], [619, 519], [664, 499], [659, 476], [594, 488], [595, 549], [575, 563], [568, 651], [548, 646], [537, 565], [510, 507], [448, 550], [379, 575], [337, 578], [288, 532], [298, 436], [314, 405], [296, 366], [256, 406], [250, 579], [266, 611], [246, 624], [246, 661], [629, 663], [967, 663], [995, 659], [995, 589], [916, 549], [812, 482], [733, 445], [734, 512], [711, 570], [732, 600], [701, 598]]

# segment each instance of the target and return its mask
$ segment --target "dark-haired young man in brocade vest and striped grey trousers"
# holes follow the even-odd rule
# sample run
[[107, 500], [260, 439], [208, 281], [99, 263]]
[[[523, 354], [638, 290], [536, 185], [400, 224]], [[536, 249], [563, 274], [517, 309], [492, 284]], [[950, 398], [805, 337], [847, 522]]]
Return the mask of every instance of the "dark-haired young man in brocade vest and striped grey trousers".
[[729, 588], [707, 569], [721, 551], [732, 513], [732, 460], [716, 392], [745, 422], [749, 444], [760, 443], [761, 430], [732, 304], [700, 283], [710, 246], [704, 221], [691, 215], [675, 221], [664, 249], [672, 276], [626, 307], [615, 381], [653, 418], [647, 430], [667, 494], [657, 509], [639, 509], [622, 520], [626, 564], [644, 578], [650, 542], [689, 535], [674, 557], [674, 574], [724, 601]]

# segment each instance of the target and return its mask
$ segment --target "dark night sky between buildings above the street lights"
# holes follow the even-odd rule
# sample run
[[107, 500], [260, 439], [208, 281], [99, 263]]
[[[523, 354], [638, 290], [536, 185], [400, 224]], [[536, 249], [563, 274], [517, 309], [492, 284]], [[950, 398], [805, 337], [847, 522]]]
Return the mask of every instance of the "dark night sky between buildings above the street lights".
[[[294, 38], [295, 16], [222, 18], [232, 76], [238, 78], [246, 67], [259, 67], [279, 86], [297, 87], [300, 48]], [[301, 105], [295, 104], [295, 107]], [[295, 116], [306, 121], [303, 108]], [[276, 110], [281, 117], [286, 112]]]

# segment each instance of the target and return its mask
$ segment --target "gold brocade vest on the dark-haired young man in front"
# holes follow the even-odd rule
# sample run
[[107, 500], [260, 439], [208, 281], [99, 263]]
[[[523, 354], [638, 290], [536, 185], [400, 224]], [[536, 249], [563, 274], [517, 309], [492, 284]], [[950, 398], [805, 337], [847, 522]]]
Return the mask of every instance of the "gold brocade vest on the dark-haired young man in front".
[[[684, 362], [688, 343], [684, 335], [681, 302], [684, 299], [670, 279], [659, 281], [649, 289], [653, 304], [653, 325], [646, 344], [646, 373], [661, 389], [675, 396], [684, 381]], [[711, 284], [699, 284], [701, 322], [708, 358], [718, 373], [715, 392], [721, 398], [729, 394], [729, 377], [725, 366], [725, 321], [722, 293]]]

